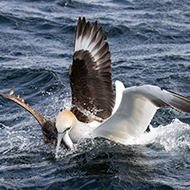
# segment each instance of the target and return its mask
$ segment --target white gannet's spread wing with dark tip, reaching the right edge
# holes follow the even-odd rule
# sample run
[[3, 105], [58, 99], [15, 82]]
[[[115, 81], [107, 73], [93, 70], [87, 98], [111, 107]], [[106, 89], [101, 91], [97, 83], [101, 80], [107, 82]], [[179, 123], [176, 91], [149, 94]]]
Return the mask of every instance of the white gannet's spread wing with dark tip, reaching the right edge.
[[173, 92], [152, 85], [126, 88], [115, 114], [93, 135], [127, 144], [146, 130], [158, 108], [166, 106], [190, 113], [190, 100]]

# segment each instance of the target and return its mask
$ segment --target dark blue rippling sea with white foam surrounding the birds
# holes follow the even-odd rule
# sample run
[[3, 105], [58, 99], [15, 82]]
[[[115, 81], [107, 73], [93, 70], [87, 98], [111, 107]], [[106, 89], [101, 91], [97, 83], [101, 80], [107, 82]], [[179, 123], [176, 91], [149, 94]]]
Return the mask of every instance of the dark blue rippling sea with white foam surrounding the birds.
[[[190, 98], [190, 2], [178, 0], [1, 0], [0, 93], [15, 86], [50, 118], [69, 109], [78, 16], [103, 26], [113, 81]], [[37, 121], [0, 97], [0, 189], [190, 189], [190, 115], [161, 109], [151, 125], [129, 146], [91, 139], [56, 159]]]

